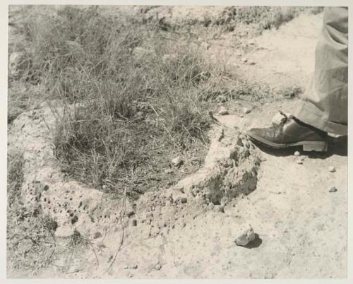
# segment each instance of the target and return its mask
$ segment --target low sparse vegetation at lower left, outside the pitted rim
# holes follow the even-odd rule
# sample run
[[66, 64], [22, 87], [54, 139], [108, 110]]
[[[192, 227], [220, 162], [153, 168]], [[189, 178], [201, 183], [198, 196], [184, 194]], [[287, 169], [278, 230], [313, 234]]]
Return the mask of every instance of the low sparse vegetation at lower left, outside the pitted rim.
[[22, 153], [8, 154], [7, 265], [8, 270], [35, 273], [52, 261], [54, 227], [50, 224], [54, 221], [49, 216], [38, 215], [38, 208], [23, 201], [23, 165]]

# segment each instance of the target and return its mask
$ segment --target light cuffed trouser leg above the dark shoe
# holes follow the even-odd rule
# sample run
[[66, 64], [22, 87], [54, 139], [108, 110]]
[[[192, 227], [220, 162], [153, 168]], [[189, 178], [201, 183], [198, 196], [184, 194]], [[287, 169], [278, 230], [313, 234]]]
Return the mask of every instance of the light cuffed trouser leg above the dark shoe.
[[347, 8], [325, 8], [315, 60], [311, 84], [294, 116], [322, 131], [347, 135]]

